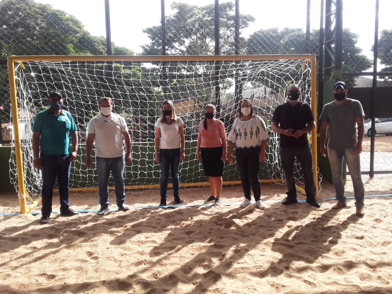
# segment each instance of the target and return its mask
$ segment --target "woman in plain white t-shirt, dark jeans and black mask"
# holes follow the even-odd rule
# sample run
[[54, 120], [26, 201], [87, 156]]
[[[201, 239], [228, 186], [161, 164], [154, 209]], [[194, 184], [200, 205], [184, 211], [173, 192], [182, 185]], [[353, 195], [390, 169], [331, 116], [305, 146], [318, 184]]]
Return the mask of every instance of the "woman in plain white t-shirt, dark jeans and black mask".
[[177, 204], [184, 201], [180, 198], [180, 177], [178, 170], [180, 161], [185, 158], [184, 123], [176, 116], [173, 103], [165, 100], [162, 103], [162, 118], [155, 123], [155, 161], [161, 165], [161, 203], [166, 206], [167, 179], [169, 167], [173, 179], [173, 196]]

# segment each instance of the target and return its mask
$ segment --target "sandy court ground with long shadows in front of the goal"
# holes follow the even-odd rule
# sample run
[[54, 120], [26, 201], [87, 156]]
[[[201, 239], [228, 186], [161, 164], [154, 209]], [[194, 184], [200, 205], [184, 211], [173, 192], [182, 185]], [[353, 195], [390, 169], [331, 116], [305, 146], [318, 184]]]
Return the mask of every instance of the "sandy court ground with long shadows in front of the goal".
[[[392, 178], [363, 180], [366, 195], [392, 194]], [[183, 189], [184, 205], [200, 206], [169, 209], [137, 208], [157, 205], [157, 191], [128, 192], [131, 209], [103, 217], [96, 192], [71, 195], [73, 209], [94, 211], [54, 213], [48, 225], [10, 214], [16, 194], [3, 194], [0, 293], [392, 293], [392, 197], [365, 198], [358, 218], [352, 198], [330, 210], [333, 187], [322, 187], [320, 209], [281, 205], [285, 185], [263, 184], [265, 211], [241, 209], [241, 187], [230, 186], [221, 207], [201, 205], [209, 189]]]

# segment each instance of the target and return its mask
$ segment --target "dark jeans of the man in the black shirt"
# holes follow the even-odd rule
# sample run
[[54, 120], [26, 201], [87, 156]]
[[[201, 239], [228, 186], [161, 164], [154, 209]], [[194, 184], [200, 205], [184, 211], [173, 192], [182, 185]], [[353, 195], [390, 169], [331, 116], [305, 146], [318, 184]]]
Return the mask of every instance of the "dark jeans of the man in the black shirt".
[[303, 172], [306, 197], [309, 200], [316, 199], [312, 151], [310, 151], [309, 145], [302, 147], [279, 147], [279, 156], [286, 179], [287, 197], [292, 200], [297, 199], [297, 189], [294, 181], [294, 162], [297, 157]]

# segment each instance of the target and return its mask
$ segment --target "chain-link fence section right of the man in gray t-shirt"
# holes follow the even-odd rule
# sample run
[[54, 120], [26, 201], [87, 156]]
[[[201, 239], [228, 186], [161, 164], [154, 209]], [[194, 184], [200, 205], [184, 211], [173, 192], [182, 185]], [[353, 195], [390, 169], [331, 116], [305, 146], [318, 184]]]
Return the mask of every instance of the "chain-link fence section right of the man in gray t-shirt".
[[[353, 56], [352, 66], [343, 65], [343, 79], [350, 81], [348, 97], [361, 102], [365, 112], [365, 132], [363, 152], [361, 154], [361, 170], [363, 174], [382, 175], [392, 173], [392, 20], [390, 18], [390, 2], [379, 1], [378, 42], [377, 42], [377, 80], [373, 82], [374, 62], [374, 24], [376, 2], [369, 5], [348, 6], [355, 9], [356, 18], [348, 18], [345, 27], [357, 28], [356, 40], [363, 51], [345, 51], [343, 34], [343, 56]], [[366, 25], [363, 20], [367, 19]], [[365, 29], [366, 26], [372, 30]], [[347, 31], [347, 29], [346, 29]], [[354, 29], [351, 29], [354, 33]], [[359, 47], [358, 47], [359, 49]], [[367, 55], [365, 55], [368, 53]], [[370, 54], [369, 54], [370, 53]], [[373, 68], [372, 68], [373, 67]], [[388, 73], [389, 72], [389, 73]], [[373, 142], [374, 143], [373, 143]]]

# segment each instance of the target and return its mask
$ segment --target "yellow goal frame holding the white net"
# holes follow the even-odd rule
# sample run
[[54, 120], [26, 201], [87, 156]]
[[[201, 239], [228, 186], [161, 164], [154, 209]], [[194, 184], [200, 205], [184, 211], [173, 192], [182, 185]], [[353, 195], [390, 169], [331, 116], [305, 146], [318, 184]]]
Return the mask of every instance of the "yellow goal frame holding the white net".
[[[170, 62], [170, 61], [241, 61], [241, 60], [303, 60], [310, 62], [310, 107], [314, 118], [317, 117], [317, 92], [316, 92], [316, 55], [315, 54], [274, 54], [274, 55], [117, 55], [117, 56], [106, 56], [106, 55], [38, 55], [38, 56], [9, 56], [8, 57], [8, 76], [9, 76], [9, 88], [11, 98], [11, 111], [12, 111], [12, 123], [14, 132], [15, 142], [15, 159], [16, 159], [16, 172], [18, 179], [18, 197], [20, 204], [20, 213], [27, 213], [41, 202], [41, 197], [38, 200], [33, 201], [29, 192], [25, 189], [24, 184], [24, 172], [23, 172], [23, 160], [22, 160], [22, 144], [20, 141], [19, 133], [19, 116], [18, 116], [18, 103], [16, 96], [16, 81], [15, 81], [15, 63], [19, 63], [22, 68], [23, 62], [29, 61], [48, 61], [48, 62], [64, 62], [64, 61], [90, 61], [90, 62]], [[316, 120], [317, 123], [317, 120]], [[316, 191], [318, 191], [318, 177], [317, 177], [317, 127], [312, 131], [311, 134], [311, 146], [314, 166], [314, 180], [316, 183]], [[262, 183], [267, 182], [278, 182], [281, 179], [272, 180], [260, 180]], [[224, 182], [223, 185], [239, 184], [240, 181]], [[183, 183], [181, 187], [192, 185], [193, 187], [198, 186], [198, 183]], [[206, 183], [200, 183], [200, 186], [205, 186]], [[157, 185], [143, 185], [143, 186], [128, 186], [127, 189], [141, 189], [141, 188], [152, 188]], [[297, 187], [297, 189], [304, 193], [303, 189]], [[89, 188], [88, 190], [94, 190]], [[70, 189], [70, 191], [77, 191], [77, 189]], [[87, 191], [87, 189], [80, 189], [80, 191]], [[28, 198], [31, 204], [27, 205], [26, 198]]]

